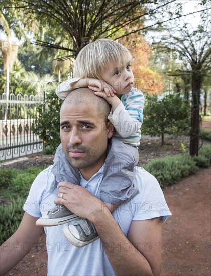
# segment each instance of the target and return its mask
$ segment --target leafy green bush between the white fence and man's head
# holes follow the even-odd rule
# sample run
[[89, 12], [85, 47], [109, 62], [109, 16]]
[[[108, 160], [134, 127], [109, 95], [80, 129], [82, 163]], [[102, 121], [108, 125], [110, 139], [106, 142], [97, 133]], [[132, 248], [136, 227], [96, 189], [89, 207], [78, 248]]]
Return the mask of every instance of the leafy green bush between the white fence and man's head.
[[38, 118], [35, 119], [32, 131], [39, 135], [43, 140], [45, 147], [50, 146], [54, 153], [60, 144], [59, 136], [59, 111], [62, 100], [59, 99], [55, 91], [46, 93], [45, 103], [38, 105]]

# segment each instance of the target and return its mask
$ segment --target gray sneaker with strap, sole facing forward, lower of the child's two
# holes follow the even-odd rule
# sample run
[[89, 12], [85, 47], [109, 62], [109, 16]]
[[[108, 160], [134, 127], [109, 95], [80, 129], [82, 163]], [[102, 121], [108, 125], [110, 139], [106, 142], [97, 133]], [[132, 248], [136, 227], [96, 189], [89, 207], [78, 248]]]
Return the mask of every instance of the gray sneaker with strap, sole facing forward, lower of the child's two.
[[77, 247], [83, 247], [99, 238], [94, 224], [88, 219], [80, 219], [63, 229], [65, 238]]

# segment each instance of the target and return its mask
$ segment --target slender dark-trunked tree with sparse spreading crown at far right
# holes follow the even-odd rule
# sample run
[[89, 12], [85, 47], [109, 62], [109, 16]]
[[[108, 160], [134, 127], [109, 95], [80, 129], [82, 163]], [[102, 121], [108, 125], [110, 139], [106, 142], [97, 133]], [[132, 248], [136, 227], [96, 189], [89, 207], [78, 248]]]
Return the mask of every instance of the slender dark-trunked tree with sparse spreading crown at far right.
[[210, 70], [210, 38], [207, 25], [198, 25], [192, 29], [184, 24], [180, 35], [169, 36], [168, 48], [176, 51], [181, 59], [185, 59], [188, 66], [178, 69], [178, 72], [191, 75], [191, 132], [190, 155], [198, 155], [200, 131], [200, 95], [204, 76]]

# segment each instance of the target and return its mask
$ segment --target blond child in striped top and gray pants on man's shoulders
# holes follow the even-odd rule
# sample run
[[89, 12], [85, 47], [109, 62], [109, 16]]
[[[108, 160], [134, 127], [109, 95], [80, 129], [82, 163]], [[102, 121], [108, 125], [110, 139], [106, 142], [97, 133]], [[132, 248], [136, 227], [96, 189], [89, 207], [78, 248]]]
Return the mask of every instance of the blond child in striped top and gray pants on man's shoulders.
[[[131, 62], [131, 54], [122, 44], [99, 39], [79, 52], [73, 68], [75, 78], [61, 83], [56, 89], [56, 94], [64, 99], [73, 89], [89, 87], [96, 96], [103, 97], [111, 105], [108, 120], [116, 131], [108, 148], [105, 164], [102, 164], [103, 181], [98, 193], [111, 212], [138, 193], [133, 180], [134, 166], [139, 160], [144, 96], [140, 90], [133, 88]], [[77, 153], [74, 157], [77, 158]], [[61, 144], [56, 150], [52, 172], [57, 182], [80, 183], [79, 170], [69, 164]], [[98, 238], [90, 221], [78, 218], [62, 205], [56, 205], [46, 216], [37, 220], [36, 224], [54, 226], [76, 219], [76, 223], [63, 229], [70, 243], [81, 247]]]

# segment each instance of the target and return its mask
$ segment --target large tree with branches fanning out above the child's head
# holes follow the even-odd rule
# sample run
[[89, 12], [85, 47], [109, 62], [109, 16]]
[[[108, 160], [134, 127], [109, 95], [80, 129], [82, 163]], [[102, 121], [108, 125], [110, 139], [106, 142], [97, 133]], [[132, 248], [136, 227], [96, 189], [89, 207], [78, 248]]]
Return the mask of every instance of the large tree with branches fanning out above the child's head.
[[[80, 49], [99, 37], [114, 39], [140, 32], [146, 18], [157, 18], [157, 14], [162, 14], [164, 7], [174, 2], [176, 3], [175, 0], [14, 0], [10, 4], [3, 0], [2, 5], [7, 9], [21, 9], [24, 14], [33, 13], [36, 20], [44, 19], [49, 26], [60, 26], [64, 36], [67, 35], [68, 40], [72, 42], [71, 47], [64, 47], [50, 40], [37, 40], [37, 43], [70, 51], [68, 57], [75, 58]], [[169, 18], [171, 16], [172, 14], [169, 14]], [[158, 20], [154, 25], [160, 22]], [[130, 27], [130, 32], [127, 32], [125, 27]]]

